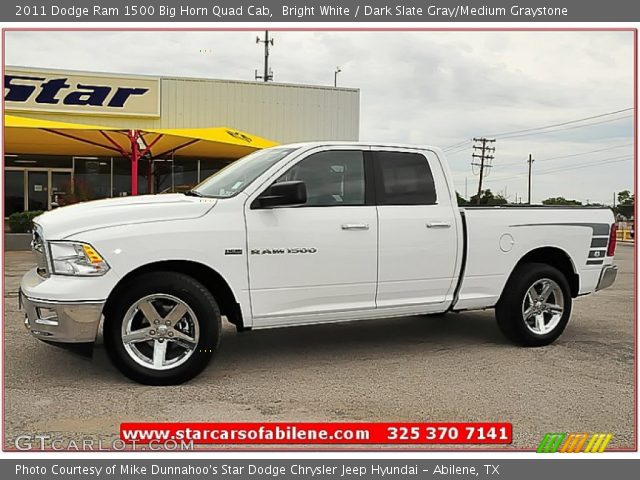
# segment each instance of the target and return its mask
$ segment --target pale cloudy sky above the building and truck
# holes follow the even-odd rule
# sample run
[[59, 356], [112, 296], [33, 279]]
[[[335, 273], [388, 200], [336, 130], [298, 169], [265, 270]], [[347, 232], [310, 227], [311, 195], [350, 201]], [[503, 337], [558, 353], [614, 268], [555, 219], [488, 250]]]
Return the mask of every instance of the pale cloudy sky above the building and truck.
[[[5, 58], [8, 65], [253, 80], [263, 61], [257, 33], [7, 32]], [[275, 81], [331, 85], [339, 65], [339, 86], [361, 92], [360, 139], [449, 147], [462, 195], [477, 189], [470, 139], [489, 135], [497, 141], [485, 185], [511, 201], [526, 201], [530, 153], [536, 202], [611, 203], [614, 192], [633, 187], [631, 32], [271, 35]]]

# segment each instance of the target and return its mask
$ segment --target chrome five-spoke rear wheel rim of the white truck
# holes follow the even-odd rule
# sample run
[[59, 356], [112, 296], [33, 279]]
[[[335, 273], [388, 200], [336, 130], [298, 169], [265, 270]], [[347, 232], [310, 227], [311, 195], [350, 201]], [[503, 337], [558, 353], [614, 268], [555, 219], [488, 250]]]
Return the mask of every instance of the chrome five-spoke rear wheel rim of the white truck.
[[522, 318], [529, 330], [545, 335], [558, 326], [564, 313], [562, 289], [549, 278], [537, 280], [522, 301]]

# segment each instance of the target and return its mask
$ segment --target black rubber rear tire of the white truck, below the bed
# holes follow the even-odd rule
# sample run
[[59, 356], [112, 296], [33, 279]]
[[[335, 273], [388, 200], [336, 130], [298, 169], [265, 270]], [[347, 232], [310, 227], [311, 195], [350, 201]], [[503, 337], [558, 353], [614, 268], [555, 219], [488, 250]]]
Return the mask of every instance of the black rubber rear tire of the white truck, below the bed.
[[[545, 328], [548, 327], [549, 331], [538, 328], [536, 316], [540, 313], [529, 317], [528, 321], [525, 319], [525, 310], [529, 311], [529, 307], [532, 306], [531, 297], [527, 297], [527, 292], [534, 285], [540, 287], [540, 291], [549, 285], [553, 290], [549, 295], [549, 302], [562, 305], [562, 314], [554, 316], [553, 314], [558, 312], [545, 310], [547, 303], [538, 305], [534, 302], [534, 311], [542, 309], [543, 312], [540, 325], [544, 325], [545, 319], [548, 319]], [[555, 298], [556, 296], [559, 298]], [[562, 334], [571, 316], [571, 305], [569, 283], [558, 269], [544, 263], [526, 263], [517, 267], [509, 277], [495, 308], [496, 320], [504, 336], [512, 342], [525, 347], [542, 347], [553, 343]]]

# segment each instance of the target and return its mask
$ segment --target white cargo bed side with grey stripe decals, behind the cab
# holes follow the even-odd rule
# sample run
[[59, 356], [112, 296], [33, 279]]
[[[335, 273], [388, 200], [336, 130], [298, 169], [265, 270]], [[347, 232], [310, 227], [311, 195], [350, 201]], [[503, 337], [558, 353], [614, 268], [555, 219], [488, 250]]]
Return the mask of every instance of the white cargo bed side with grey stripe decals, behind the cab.
[[466, 261], [453, 310], [494, 306], [516, 264], [531, 259], [532, 252], [554, 257], [553, 264], [567, 273], [574, 296], [593, 292], [603, 265], [612, 263], [606, 256], [612, 217], [608, 208], [500, 206], [460, 212]]

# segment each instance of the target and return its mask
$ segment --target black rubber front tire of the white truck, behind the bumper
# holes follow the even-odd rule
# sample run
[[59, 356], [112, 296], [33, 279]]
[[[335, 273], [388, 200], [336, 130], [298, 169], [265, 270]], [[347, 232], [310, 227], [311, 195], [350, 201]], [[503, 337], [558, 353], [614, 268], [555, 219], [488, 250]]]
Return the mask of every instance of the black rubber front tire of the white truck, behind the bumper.
[[[159, 315], [158, 323], [164, 323], [163, 319], [169, 319], [167, 312], [172, 308], [171, 299], [175, 300], [174, 306], [177, 307], [180, 303], [183, 309], [184, 305], [190, 309], [171, 327], [160, 325], [157, 330], [153, 330], [152, 322], [147, 320], [142, 308], [135, 307], [140, 305], [140, 302], [151, 302]], [[144, 306], [146, 307], [146, 303]], [[165, 317], [162, 316], [163, 313], [166, 313]], [[129, 346], [127, 350], [124, 344], [123, 328], [126, 328], [126, 325], [123, 327], [123, 323], [125, 321], [127, 324], [138, 322], [136, 333], [137, 329], [146, 329], [149, 334], [156, 335], [154, 338], [158, 338], [157, 335], [160, 333], [165, 336], [155, 340], [132, 342], [137, 354], [134, 355], [131, 353], [131, 347]], [[164, 329], [162, 332], [160, 332], [161, 328]], [[151, 272], [136, 277], [125, 288], [119, 290], [118, 298], [105, 313], [104, 344], [113, 364], [130, 379], [145, 385], [177, 385], [192, 379], [207, 366], [213, 354], [218, 351], [221, 329], [222, 321], [218, 304], [211, 292], [200, 282], [182, 273]], [[194, 340], [191, 343], [182, 343], [182, 345], [189, 345], [190, 348], [183, 347], [181, 340], [177, 338], [177, 335], [182, 333]], [[167, 335], [173, 338], [169, 339]], [[159, 355], [163, 359], [162, 364], [164, 361], [177, 359], [177, 365], [162, 367], [166, 369], [155, 369], [151, 364], [145, 366], [146, 364], [143, 363], [149, 355], [151, 355], [151, 361], [155, 361], [157, 342], [165, 341], [165, 351], [160, 354], [161, 356]], [[181, 357], [182, 350], [184, 354]], [[169, 358], [172, 355], [174, 358]], [[135, 360], [134, 356], [139, 360]]]

